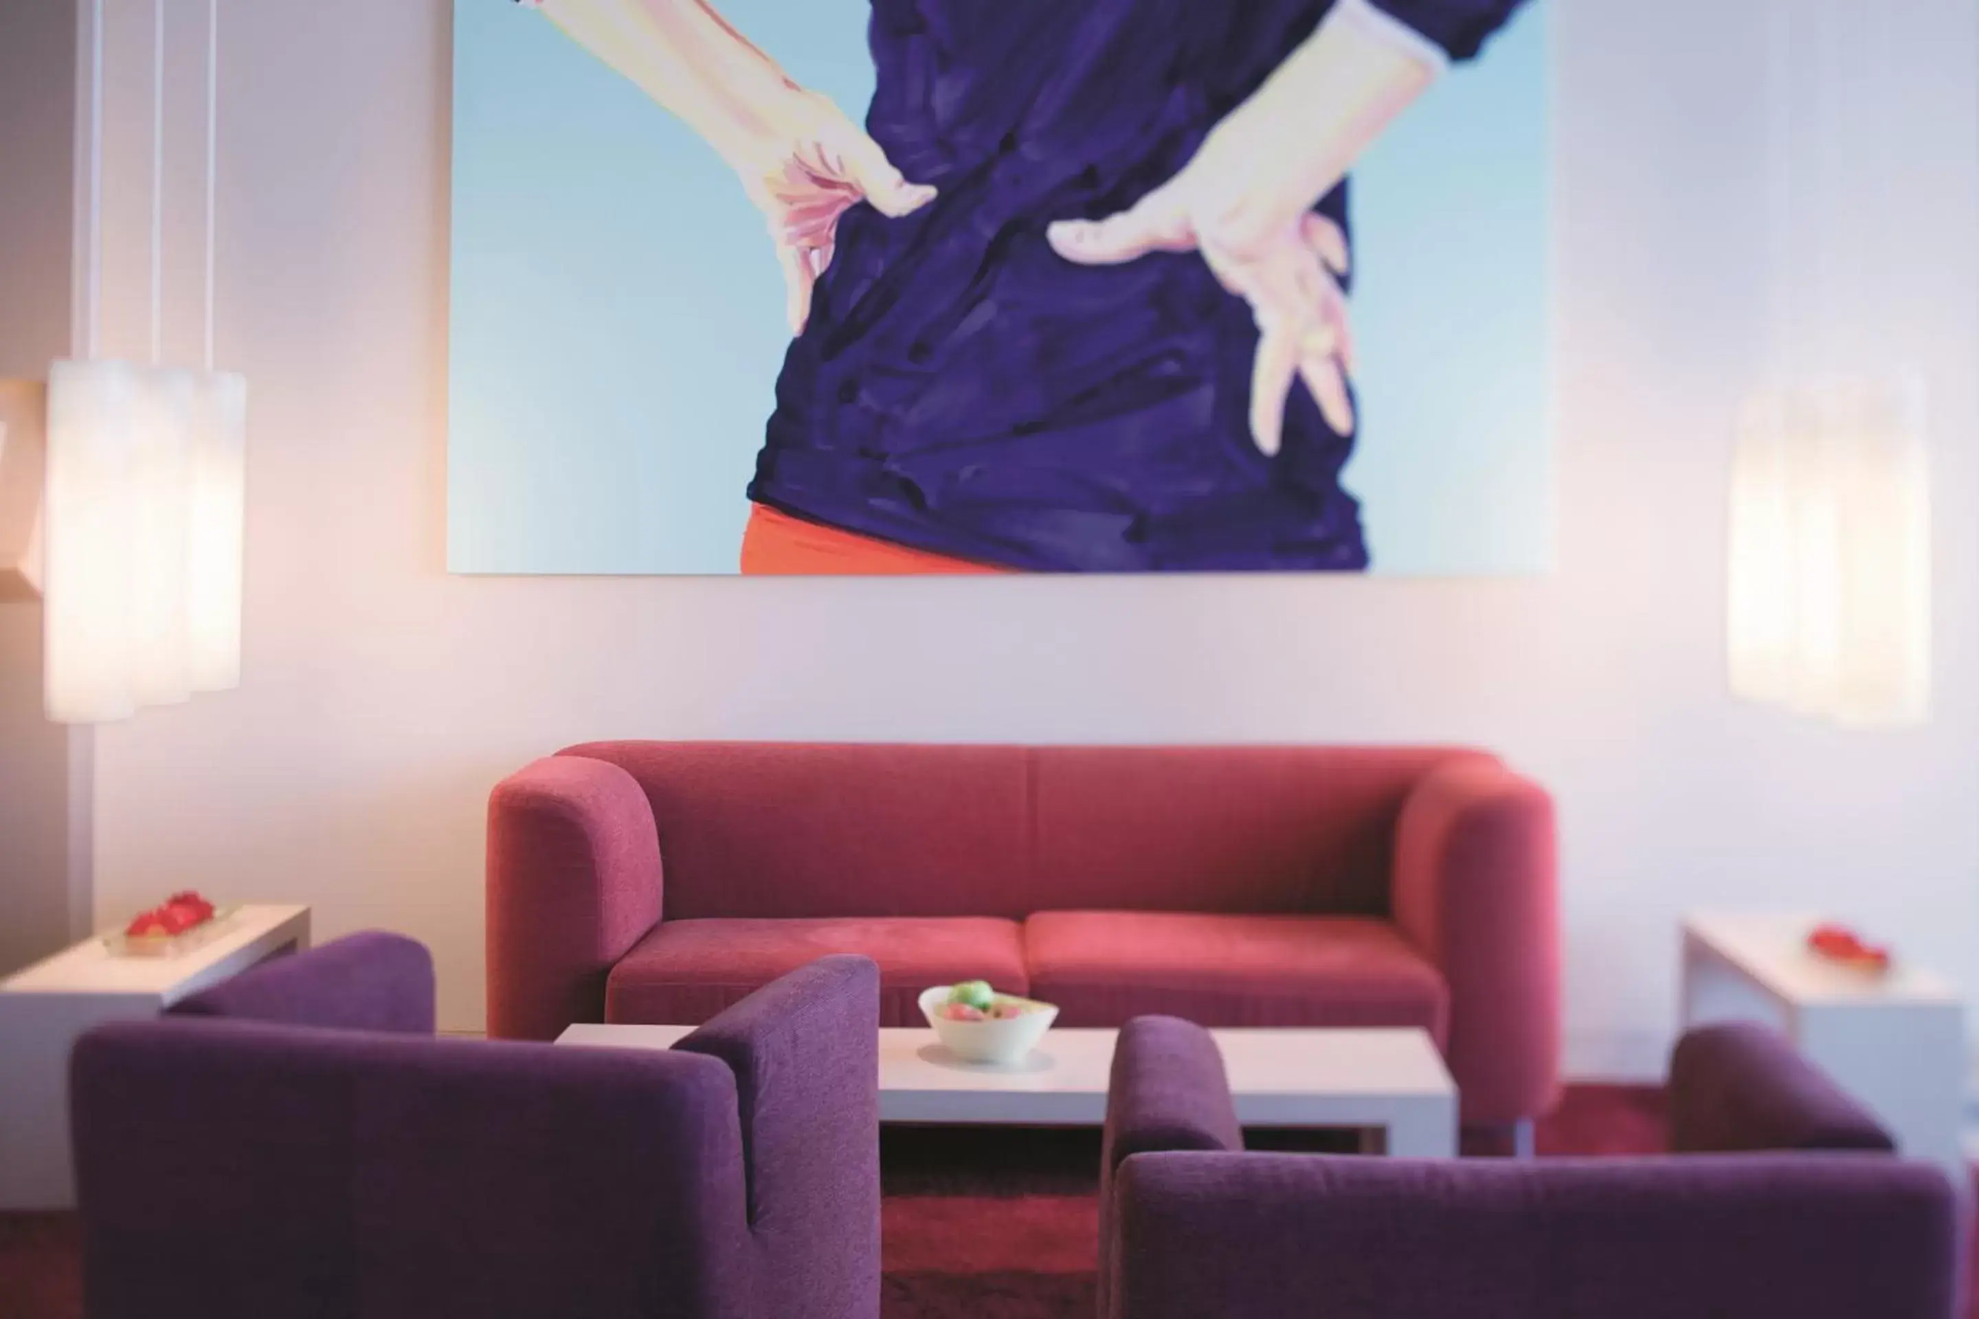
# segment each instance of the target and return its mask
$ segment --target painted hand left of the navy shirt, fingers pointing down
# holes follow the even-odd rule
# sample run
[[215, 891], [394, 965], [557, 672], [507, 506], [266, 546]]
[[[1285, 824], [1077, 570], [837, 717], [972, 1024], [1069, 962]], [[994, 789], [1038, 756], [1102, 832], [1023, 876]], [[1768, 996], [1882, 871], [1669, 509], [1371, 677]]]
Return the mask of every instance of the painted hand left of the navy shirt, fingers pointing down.
[[732, 164], [770, 221], [790, 332], [798, 334], [811, 316], [811, 289], [837, 249], [839, 218], [859, 202], [883, 216], [910, 216], [934, 200], [934, 188], [906, 182], [885, 148], [815, 91], [792, 89], [764, 117], [758, 142]]

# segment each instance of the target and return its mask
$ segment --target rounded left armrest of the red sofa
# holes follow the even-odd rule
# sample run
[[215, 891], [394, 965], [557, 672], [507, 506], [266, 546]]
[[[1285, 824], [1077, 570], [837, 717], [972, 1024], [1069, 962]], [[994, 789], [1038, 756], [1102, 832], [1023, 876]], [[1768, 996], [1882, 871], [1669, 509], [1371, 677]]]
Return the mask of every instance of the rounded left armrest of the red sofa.
[[497, 783], [487, 904], [489, 1034], [554, 1040], [604, 1020], [606, 977], [661, 914], [659, 833], [637, 779], [550, 755]]

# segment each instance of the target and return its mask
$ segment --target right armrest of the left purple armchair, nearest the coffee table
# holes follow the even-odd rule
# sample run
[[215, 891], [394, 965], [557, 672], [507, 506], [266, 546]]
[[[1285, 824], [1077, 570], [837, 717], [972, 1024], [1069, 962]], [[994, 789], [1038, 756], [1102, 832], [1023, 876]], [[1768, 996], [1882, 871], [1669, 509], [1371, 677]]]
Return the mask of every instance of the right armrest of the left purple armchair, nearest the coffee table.
[[675, 1044], [728, 1064], [766, 1315], [879, 1313], [879, 967], [821, 957]]

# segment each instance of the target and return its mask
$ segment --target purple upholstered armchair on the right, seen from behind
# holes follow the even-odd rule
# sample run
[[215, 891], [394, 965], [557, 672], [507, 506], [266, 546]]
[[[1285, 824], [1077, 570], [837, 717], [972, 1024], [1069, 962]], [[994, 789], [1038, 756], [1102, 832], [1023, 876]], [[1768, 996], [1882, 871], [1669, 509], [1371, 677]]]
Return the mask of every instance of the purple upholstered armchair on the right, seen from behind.
[[[1943, 1173], [1862, 1153], [1888, 1137], [1765, 1032], [1692, 1034], [1670, 1086], [1682, 1157], [1243, 1153], [1209, 1036], [1130, 1022], [1102, 1157], [1102, 1319], [1951, 1317]], [[1817, 1141], [1856, 1153], [1805, 1153]]]

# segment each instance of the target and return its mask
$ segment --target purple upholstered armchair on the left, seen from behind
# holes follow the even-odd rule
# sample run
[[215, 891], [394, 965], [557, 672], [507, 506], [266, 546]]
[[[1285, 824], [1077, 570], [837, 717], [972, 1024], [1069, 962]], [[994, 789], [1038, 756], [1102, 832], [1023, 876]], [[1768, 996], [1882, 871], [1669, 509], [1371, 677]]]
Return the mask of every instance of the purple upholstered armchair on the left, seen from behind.
[[71, 1062], [93, 1319], [875, 1319], [879, 977], [669, 1052], [431, 1038], [424, 947], [265, 963]]

